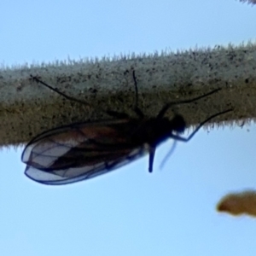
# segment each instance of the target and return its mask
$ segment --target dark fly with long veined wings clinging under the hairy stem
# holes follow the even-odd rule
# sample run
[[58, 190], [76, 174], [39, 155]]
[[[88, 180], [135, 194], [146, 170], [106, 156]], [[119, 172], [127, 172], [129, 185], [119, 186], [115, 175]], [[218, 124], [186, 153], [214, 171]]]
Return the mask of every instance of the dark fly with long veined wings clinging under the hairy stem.
[[[32, 79], [69, 100], [81, 102], [35, 77]], [[170, 102], [156, 117], [148, 118], [137, 107], [137, 79], [134, 72], [133, 79], [136, 90], [134, 110], [137, 118], [108, 111], [115, 119], [72, 124], [45, 131], [33, 138], [22, 153], [21, 160], [26, 164], [26, 176], [44, 184], [75, 183], [113, 171], [146, 153], [149, 153], [148, 170], [152, 172], [154, 151], [160, 143], [167, 138], [188, 142], [209, 120], [232, 111], [229, 109], [213, 114], [201, 122], [188, 138], [180, 137], [178, 134], [186, 128], [183, 116], [176, 114], [173, 119], [167, 119], [164, 117], [167, 109], [173, 105], [198, 101], [220, 89], [194, 99]]]

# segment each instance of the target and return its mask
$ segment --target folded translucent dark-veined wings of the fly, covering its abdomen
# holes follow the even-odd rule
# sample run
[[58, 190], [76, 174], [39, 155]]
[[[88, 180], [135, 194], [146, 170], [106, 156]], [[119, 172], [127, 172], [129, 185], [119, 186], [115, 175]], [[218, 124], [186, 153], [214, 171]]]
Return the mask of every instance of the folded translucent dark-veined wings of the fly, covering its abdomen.
[[113, 171], [147, 152], [143, 145], [130, 142], [126, 126], [129, 119], [46, 131], [24, 149], [25, 174], [39, 183], [65, 184]]

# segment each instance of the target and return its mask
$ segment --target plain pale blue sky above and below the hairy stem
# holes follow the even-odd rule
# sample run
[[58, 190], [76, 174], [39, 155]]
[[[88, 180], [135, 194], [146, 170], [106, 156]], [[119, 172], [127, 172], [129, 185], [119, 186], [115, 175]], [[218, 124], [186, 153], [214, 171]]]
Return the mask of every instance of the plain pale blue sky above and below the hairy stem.
[[[215, 1], [3, 1], [0, 63], [21, 65], [240, 44], [256, 7]], [[187, 133], [186, 133], [187, 135]], [[256, 222], [216, 212], [221, 196], [256, 189], [256, 125], [202, 130], [148, 158], [61, 187], [23, 174], [23, 148], [0, 153], [2, 255], [256, 255]]]

